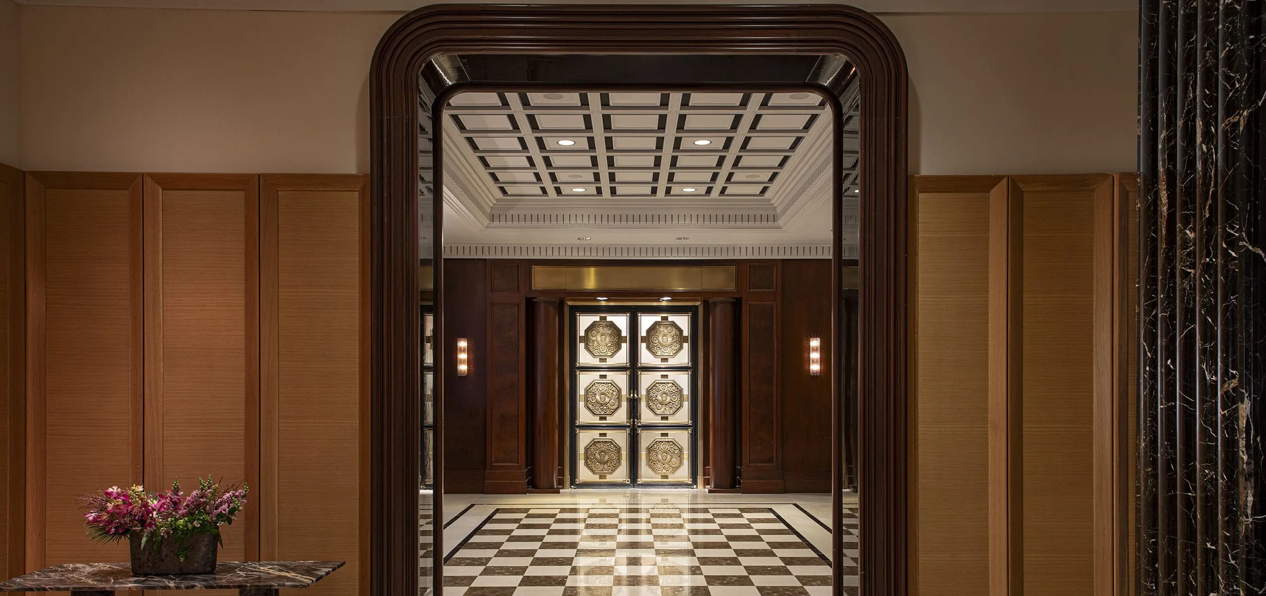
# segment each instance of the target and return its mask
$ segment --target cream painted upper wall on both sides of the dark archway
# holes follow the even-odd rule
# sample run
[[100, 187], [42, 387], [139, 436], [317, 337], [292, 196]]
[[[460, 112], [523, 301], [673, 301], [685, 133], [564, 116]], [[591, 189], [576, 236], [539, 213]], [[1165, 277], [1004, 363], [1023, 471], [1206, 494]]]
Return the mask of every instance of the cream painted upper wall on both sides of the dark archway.
[[[0, 0], [9, 1], [9, 0]], [[30, 170], [366, 172], [394, 14], [22, 6]], [[1133, 11], [886, 15], [913, 173], [1133, 171]]]

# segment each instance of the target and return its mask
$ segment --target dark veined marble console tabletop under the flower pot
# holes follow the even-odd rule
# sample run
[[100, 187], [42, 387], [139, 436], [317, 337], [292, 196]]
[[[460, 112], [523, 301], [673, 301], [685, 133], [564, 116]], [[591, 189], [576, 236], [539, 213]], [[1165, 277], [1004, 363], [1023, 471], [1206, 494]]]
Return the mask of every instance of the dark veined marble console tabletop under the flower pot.
[[125, 590], [237, 590], [241, 596], [277, 596], [284, 587], [308, 587], [342, 561], [225, 561], [214, 573], [133, 576], [130, 563], [67, 563], [0, 582], [0, 592], [71, 592], [110, 596]]

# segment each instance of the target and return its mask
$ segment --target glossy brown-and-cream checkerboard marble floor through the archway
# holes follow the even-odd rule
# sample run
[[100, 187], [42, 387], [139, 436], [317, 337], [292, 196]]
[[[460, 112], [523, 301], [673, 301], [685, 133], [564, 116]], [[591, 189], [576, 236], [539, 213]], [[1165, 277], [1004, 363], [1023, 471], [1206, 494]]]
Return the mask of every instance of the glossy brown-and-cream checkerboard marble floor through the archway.
[[[794, 504], [471, 505], [449, 525], [461, 519], [480, 521], [446, 548], [446, 596], [830, 593], [829, 531]], [[856, 593], [856, 505], [846, 530]]]

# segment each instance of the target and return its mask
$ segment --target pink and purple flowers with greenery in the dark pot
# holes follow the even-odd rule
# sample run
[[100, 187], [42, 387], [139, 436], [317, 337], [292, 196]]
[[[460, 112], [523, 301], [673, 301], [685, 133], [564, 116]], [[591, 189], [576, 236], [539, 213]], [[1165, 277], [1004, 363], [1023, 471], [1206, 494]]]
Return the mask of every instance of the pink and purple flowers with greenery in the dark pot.
[[139, 537], [141, 545], [158, 549], [165, 540], [176, 540], [176, 556], [184, 561], [185, 543], [197, 534], [214, 534], [224, 544], [220, 525], [233, 524], [246, 506], [247, 486], [234, 482], [227, 487], [210, 478], [197, 480], [197, 490], [185, 495], [180, 481], [166, 492], [146, 494], [143, 486], [123, 490], [111, 486], [80, 497], [86, 509], [84, 525], [94, 542], [113, 543]]

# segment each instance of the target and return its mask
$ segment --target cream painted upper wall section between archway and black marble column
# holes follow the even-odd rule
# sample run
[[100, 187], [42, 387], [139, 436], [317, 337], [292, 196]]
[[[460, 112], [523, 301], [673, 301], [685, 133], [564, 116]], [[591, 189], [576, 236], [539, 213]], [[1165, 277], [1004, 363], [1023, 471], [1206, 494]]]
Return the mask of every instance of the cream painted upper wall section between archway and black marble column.
[[910, 68], [910, 172], [1133, 172], [1138, 13], [886, 16]]

